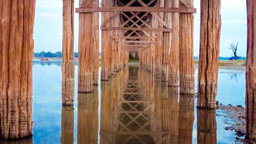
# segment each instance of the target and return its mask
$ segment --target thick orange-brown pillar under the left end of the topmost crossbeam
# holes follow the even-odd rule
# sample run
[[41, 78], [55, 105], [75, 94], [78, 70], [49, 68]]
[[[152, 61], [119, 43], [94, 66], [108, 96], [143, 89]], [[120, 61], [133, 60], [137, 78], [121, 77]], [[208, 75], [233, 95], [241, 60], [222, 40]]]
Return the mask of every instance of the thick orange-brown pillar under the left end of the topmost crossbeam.
[[[89, 0], [79, 0], [79, 4]], [[92, 7], [92, 4], [88, 5]], [[79, 13], [78, 92], [92, 92], [92, 13]]]

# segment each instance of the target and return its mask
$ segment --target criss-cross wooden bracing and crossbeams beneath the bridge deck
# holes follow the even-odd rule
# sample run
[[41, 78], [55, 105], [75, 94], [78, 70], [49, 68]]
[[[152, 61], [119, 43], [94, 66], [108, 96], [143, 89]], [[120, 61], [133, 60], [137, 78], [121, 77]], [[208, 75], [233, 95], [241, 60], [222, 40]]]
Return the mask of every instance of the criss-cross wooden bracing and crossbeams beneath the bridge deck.
[[[186, 0], [179, 0], [185, 7], [149, 7], [156, 0], [150, 0], [147, 4], [142, 0], [130, 0], [127, 4], [123, 4], [121, 0], [116, 0], [119, 7], [88, 7], [94, 0], [87, 0], [76, 8], [76, 13], [91, 12], [114, 12], [109, 19], [103, 21], [101, 30], [122, 31], [123, 36], [113, 36], [115, 43], [121, 43], [121, 47], [125, 51], [141, 51], [149, 48], [148, 44], [156, 43], [159, 32], [171, 33], [171, 24], [163, 19], [160, 13], [196, 13]], [[141, 7], [131, 7], [138, 2]], [[107, 26], [108, 23], [114, 21], [117, 16], [121, 17], [118, 27]], [[156, 19], [157, 23], [162, 26], [153, 28], [150, 26], [150, 19]], [[143, 39], [143, 40], [142, 40]], [[140, 44], [140, 45], [138, 45]]]

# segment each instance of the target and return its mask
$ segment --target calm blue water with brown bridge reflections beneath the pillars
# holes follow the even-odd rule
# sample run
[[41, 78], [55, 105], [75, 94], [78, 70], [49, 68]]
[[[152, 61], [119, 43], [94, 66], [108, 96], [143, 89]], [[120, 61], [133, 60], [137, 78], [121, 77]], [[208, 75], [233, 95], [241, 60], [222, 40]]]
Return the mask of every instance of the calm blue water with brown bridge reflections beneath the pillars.
[[[73, 107], [62, 106], [61, 61], [33, 63], [33, 137], [3, 144], [231, 144], [235, 132], [230, 121], [196, 109], [197, 99], [179, 95], [152, 73], [126, 67], [109, 81], [99, 82], [93, 93], [75, 93]], [[77, 91], [75, 65], [75, 91]], [[197, 70], [195, 72], [197, 79]], [[197, 86], [197, 81], [196, 81]], [[196, 88], [197, 89], [197, 88]], [[245, 71], [219, 70], [217, 100], [243, 105]], [[197, 131], [208, 127], [210, 132]]]

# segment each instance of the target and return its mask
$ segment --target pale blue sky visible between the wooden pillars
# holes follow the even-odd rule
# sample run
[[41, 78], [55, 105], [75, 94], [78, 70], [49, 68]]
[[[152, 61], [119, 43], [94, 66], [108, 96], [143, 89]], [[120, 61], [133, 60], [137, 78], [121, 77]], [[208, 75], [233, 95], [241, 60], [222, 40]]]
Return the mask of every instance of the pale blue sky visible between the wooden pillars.
[[[78, 0], [75, 7], [78, 7]], [[199, 55], [200, 0], [194, 0], [194, 56]], [[220, 56], [230, 57], [230, 43], [239, 41], [238, 56], [246, 56], [246, 0], [221, 0]], [[62, 51], [62, 0], [36, 0], [35, 52]], [[78, 51], [78, 14], [75, 14], [75, 51]]]

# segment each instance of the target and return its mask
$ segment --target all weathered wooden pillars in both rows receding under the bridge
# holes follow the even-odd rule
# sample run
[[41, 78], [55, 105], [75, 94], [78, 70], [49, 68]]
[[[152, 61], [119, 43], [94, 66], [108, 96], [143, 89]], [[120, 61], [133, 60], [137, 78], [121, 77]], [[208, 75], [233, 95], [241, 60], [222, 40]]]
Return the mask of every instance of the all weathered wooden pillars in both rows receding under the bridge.
[[[88, 0], [79, 0], [80, 4]], [[193, 0], [187, 0], [191, 5]], [[160, 5], [161, 3], [157, 3]], [[165, 7], [184, 7], [178, 0], [172, 0]], [[115, 3], [102, 1], [102, 7]], [[247, 138], [256, 139], [256, 1], [247, 0], [247, 61], [246, 61], [246, 121]], [[88, 7], [99, 7], [97, 0]], [[73, 105], [74, 62], [73, 62], [73, 0], [63, 0], [63, 63], [62, 103]], [[113, 16], [113, 12], [102, 13], [102, 20]], [[161, 14], [160, 14], [161, 15]], [[155, 57], [154, 45], [140, 52], [140, 63], [149, 72], [168, 76], [169, 86], [180, 86], [180, 93], [194, 94], [193, 57], [193, 14], [164, 14], [172, 23], [172, 34], [164, 32], [162, 43], [156, 42], [166, 54], [166, 44], [171, 41], [168, 56]], [[170, 18], [171, 17], [171, 18]], [[0, 136], [17, 139], [32, 135], [32, 67], [33, 26], [35, 0], [0, 1]], [[120, 18], [116, 19], [118, 22]], [[114, 26], [110, 22], [107, 26]], [[92, 92], [97, 85], [99, 68], [99, 13], [79, 14], [78, 46], [78, 92]], [[159, 26], [159, 25], [158, 25]], [[201, 0], [201, 31], [198, 77], [198, 103], [201, 108], [216, 108], [218, 57], [220, 43], [220, 0]], [[101, 79], [108, 80], [128, 61], [128, 53], [115, 44], [111, 37], [113, 30], [102, 30], [102, 72]], [[121, 33], [114, 33], [121, 35]], [[171, 39], [171, 40], [170, 40]], [[159, 53], [159, 51], [157, 52]], [[158, 57], [159, 56], [159, 57]], [[160, 58], [160, 61], [159, 59]], [[160, 62], [160, 63], [159, 63]], [[162, 72], [164, 71], [164, 72]]]

